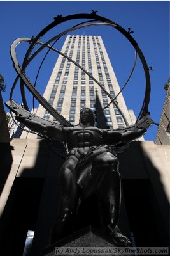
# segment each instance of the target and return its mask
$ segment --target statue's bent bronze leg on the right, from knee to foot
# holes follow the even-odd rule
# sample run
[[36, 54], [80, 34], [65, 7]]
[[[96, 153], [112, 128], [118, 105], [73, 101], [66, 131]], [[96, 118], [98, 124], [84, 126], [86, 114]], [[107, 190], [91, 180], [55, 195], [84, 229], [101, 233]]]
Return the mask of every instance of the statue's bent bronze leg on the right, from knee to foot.
[[103, 227], [117, 246], [129, 246], [129, 239], [123, 236], [117, 227], [122, 189], [117, 157], [110, 152], [97, 156], [92, 172], [97, 177], [97, 196], [101, 207]]

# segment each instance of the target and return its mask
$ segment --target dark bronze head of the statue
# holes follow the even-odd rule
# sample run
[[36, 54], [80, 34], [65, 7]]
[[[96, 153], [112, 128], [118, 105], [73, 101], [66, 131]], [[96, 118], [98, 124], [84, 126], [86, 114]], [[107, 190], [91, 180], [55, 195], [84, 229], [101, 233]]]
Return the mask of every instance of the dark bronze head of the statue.
[[94, 113], [90, 108], [82, 108], [80, 110], [80, 123], [87, 124], [90, 123], [90, 126], [94, 126]]

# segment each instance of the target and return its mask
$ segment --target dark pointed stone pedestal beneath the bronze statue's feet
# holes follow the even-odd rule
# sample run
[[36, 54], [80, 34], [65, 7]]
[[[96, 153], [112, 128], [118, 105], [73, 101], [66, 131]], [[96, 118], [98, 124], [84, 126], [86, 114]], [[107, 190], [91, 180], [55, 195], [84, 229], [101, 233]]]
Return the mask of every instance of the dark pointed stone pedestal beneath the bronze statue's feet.
[[[124, 247], [122, 247], [124, 248]], [[125, 249], [125, 248], [124, 248]], [[41, 256], [55, 255], [120, 255], [118, 248], [113, 244], [109, 236], [105, 236], [99, 230], [91, 226], [84, 228], [71, 236], [47, 246]], [[124, 256], [124, 253], [121, 255]]]

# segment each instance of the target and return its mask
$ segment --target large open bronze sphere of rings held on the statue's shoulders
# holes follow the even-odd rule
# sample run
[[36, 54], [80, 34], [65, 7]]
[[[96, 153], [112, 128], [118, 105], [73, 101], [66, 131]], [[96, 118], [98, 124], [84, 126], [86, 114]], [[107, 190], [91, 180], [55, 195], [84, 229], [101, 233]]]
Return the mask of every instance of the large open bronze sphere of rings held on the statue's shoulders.
[[[67, 60], [74, 63], [74, 65], [79, 67], [81, 70], [83, 70], [83, 72], [85, 72], [85, 74], [87, 74], [89, 77], [92, 78], [92, 80], [110, 98], [110, 103], [105, 108], [107, 108], [110, 104], [115, 104], [115, 106], [117, 106], [118, 111], [120, 112], [120, 115], [122, 115], [122, 118], [124, 119], [125, 126], [121, 127], [121, 128], [113, 129], [113, 130], [119, 131], [119, 132], [126, 132], [126, 131], [131, 131], [131, 130], [138, 130], [138, 129], [141, 129], [142, 127], [148, 129], [148, 127], [150, 127], [150, 125], [152, 125], [154, 123], [152, 121], [152, 119], [150, 118], [150, 115], [148, 112], [148, 104], [150, 102], [150, 74], [149, 74], [150, 68], [148, 68], [148, 66], [147, 66], [145, 57], [143, 56], [143, 52], [139, 48], [137, 42], [131, 36], [131, 33], [132, 33], [131, 29], [129, 28], [128, 31], [126, 31], [124, 28], [119, 26], [117, 23], [115, 23], [112, 20], [107, 19], [105, 17], [101, 17], [101, 16], [97, 15], [96, 13], [97, 13], [97, 11], [95, 11], [95, 12], [92, 11], [91, 14], [81, 13], [81, 14], [68, 15], [66, 17], [62, 17], [62, 15], [58, 15], [57, 17], [54, 17], [54, 21], [52, 23], [48, 24], [48, 26], [46, 26], [34, 38], [18, 38], [17, 40], [15, 40], [13, 42], [13, 44], [11, 45], [11, 59], [13, 61], [14, 68], [17, 72], [17, 77], [16, 77], [15, 82], [13, 83], [13, 86], [11, 88], [10, 100], [8, 102], [6, 102], [6, 106], [8, 108], [10, 108], [10, 111], [12, 111], [15, 114], [20, 114], [22, 116], [25, 116], [25, 118], [31, 118], [35, 121], [41, 122], [41, 124], [44, 124], [44, 125], [52, 124], [52, 125], [73, 126], [73, 124], [71, 124], [68, 120], [66, 120], [66, 118], [64, 118], [64, 116], [60, 115], [60, 113], [58, 113], [57, 110], [54, 109], [52, 107], [52, 105], [47, 102], [47, 100], [38, 92], [35, 84], [32, 84], [31, 81], [29, 80], [29, 78], [25, 74], [25, 70], [26, 70], [27, 66], [29, 65], [29, 63], [31, 63], [31, 61], [34, 60], [34, 58], [39, 54], [39, 52], [43, 51], [43, 49], [45, 49], [45, 47], [47, 47], [49, 49], [49, 51], [51, 50], [51, 51], [57, 52], [58, 54], [64, 56], [64, 58], [66, 58]], [[88, 20], [83, 21], [80, 24], [77, 24], [76, 26], [73, 26], [72, 28], [67, 29], [66, 31], [59, 33], [58, 35], [53, 36], [53, 38], [50, 38], [50, 40], [48, 40], [48, 42], [43, 43], [40, 41], [41, 37], [44, 36], [46, 33], [48, 33], [48, 31], [50, 31], [50, 29], [61, 24], [62, 22], [67, 22], [69, 20], [76, 20], [76, 19], [88, 19]], [[63, 52], [61, 52], [53, 47], [53, 45], [57, 42], [57, 40], [59, 40], [59, 38], [61, 36], [64, 36], [71, 31], [81, 29], [81, 28], [87, 28], [89, 26], [110, 26], [114, 29], [117, 29], [120, 33], [122, 33], [122, 35], [125, 36], [125, 38], [127, 38], [127, 40], [129, 40], [129, 42], [132, 44], [132, 46], [134, 47], [134, 50], [135, 50], [135, 61], [134, 61], [134, 66], [132, 68], [132, 72], [136, 65], [136, 57], [137, 56], [139, 57], [139, 60], [141, 61], [143, 70], [145, 72], [145, 97], [143, 100], [143, 104], [141, 106], [141, 110], [139, 112], [139, 116], [134, 125], [129, 125], [127, 123], [124, 113], [122, 113], [121, 109], [118, 107], [118, 104], [116, 102], [117, 96], [125, 88], [126, 84], [128, 83], [129, 79], [132, 76], [132, 72], [131, 72], [129, 78], [127, 79], [127, 82], [122, 87], [122, 90], [120, 90], [120, 92], [113, 98], [113, 97], [111, 97], [110, 93], [108, 93], [103, 88], [103, 86], [101, 86], [99, 81], [97, 81], [92, 76], [92, 74], [89, 74], [89, 72], [87, 70], [85, 70], [78, 63], [76, 63], [71, 58], [69, 58], [69, 56], [67, 56]], [[16, 48], [17, 48], [17, 45], [22, 42], [29, 42], [29, 48], [27, 49], [27, 52], [25, 54], [24, 61], [23, 61], [22, 65], [20, 65], [20, 63], [18, 63], [18, 60], [17, 60]], [[50, 43], [52, 43], [52, 45], [50, 45]], [[34, 53], [32, 53], [32, 50], [37, 45], [40, 45], [38, 50], [36, 50]], [[31, 53], [32, 53], [32, 55], [31, 55]], [[18, 79], [20, 79], [20, 91], [21, 91], [21, 95], [22, 95], [22, 102], [24, 104], [24, 108], [21, 108], [12, 99], [13, 91], [15, 89]], [[45, 118], [41, 118], [41, 117], [36, 116], [29, 112], [27, 100], [25, 97], [25, 86], [27, 87], [29, 92], [31, 92], [32, 95], [38, 100], [39, 104], [41, 104], [46, 109], [46, 111], [48, 111], [48, 113], [50, 113], [50, 115], [52, 115], [55, 118], [55, 120], [57, 120], [60, 124], [56, 121], [51, 122], [49, 120], [46, 120]], [[103, 108], [102, 110], [104, 111], [105, 108]], [[99, 113], [96, 113], [96, 115], [98, 115], [98, 114]], [[25, 130], [25, 131], [27, 131], [27, 130]], [[31, 131], [29, 131], [29, 132], [31, 132]]]

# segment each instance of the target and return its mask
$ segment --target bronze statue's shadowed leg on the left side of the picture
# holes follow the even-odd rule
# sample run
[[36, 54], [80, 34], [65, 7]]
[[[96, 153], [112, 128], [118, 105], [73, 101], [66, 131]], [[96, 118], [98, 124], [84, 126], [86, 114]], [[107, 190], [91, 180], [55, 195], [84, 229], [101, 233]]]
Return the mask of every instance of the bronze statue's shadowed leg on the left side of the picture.
[[50, 234], [50, 244], [73, 232], [74, 216], [80, 194], [74, 168], [77, 161], [72, 157], [62, 166], [59, 175], [59, 214]]

